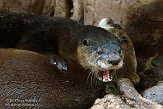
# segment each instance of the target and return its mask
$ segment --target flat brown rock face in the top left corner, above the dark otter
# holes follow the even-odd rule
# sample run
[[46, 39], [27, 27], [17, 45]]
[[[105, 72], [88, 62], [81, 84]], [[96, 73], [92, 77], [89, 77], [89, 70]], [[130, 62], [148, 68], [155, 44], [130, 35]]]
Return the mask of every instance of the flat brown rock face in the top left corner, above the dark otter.
[[0, 0], [0, 10], [17, 13], [51, 15], [54, 6], [55, 0]]

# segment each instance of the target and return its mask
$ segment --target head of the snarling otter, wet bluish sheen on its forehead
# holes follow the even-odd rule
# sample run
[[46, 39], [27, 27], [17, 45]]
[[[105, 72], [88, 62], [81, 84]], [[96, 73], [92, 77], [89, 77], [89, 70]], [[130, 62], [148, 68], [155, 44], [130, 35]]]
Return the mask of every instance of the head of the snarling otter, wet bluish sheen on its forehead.
[[111, 81], [116, 70], [123, 66], [121, 40], [110, 32], [86, 26], [80, 32], [77, 60], [103, 82]]

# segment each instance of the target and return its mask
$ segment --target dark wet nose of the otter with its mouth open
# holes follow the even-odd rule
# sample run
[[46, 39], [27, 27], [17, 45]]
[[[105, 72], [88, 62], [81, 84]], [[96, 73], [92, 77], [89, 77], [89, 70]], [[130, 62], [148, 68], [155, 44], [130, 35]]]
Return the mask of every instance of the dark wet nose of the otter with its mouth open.
[[121, 61], [121, 58], [120, 58], [120, 56], [118, 56], [116, 54], [111, 54], [108, 57], [108, 61], [112, 65], [118, 65], [118, 63]]

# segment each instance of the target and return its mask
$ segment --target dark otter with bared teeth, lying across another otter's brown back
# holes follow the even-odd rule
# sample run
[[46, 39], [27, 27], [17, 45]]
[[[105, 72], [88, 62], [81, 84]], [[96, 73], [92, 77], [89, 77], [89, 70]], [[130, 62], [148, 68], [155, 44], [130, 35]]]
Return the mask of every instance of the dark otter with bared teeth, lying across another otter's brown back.
[[111, 81], [123, 66], [123, 40], [103, 28], [67, 18], [0, 14], [0, 48], [35, 51], [48, 56], [60, 70], [79, 66], [103, 82]]

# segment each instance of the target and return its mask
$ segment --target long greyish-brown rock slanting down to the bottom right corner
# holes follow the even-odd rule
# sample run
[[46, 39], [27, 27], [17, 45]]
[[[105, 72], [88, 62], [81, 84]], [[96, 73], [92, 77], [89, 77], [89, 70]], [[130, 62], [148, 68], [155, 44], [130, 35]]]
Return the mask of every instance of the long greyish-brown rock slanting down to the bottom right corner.
[[142, 97], [129, 79], [120, 78], [117, 80], [117, 85], [123, 95], [124, 101], [126, 101], [128, 105], [137, 109], [163, 109], [162, 105]]

